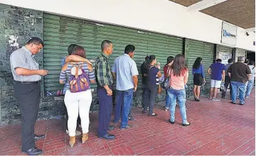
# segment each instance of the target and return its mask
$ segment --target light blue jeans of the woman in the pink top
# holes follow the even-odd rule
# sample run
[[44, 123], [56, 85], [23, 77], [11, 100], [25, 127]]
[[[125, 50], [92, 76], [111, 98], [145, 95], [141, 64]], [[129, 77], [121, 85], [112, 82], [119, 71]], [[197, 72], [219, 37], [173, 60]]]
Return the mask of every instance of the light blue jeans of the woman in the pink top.
[[178, 104], [180, 107], [180, 113], [181, 113], [181, 118], [182, 118], [182, 123], [186, 124], [188, 123], [186, 119], [186, 90], [181, 89], [181, 90], [176, 90], [173, 88], [168, 89], [168, 94], [171, 99], [171, 108], [170, 108], [170, 114], [171, 114], [171, 121], [175, 121], [175, 106], [176, 106], [176, 99], [178, 99]]

